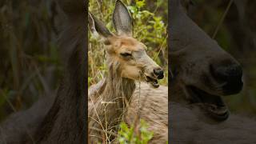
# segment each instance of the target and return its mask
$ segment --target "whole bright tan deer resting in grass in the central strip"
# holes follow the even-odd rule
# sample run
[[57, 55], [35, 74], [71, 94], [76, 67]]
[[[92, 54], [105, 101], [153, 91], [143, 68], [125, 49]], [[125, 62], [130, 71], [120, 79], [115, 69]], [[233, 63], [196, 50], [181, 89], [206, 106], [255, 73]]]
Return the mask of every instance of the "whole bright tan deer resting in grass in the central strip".
[[[154, 131], [154, 138], [150, 143], [167, 142], [167, 101], [163, 101], [165, 105], [162, 105], [161, 101], [154, 100], [159, 97], [167, 100], [167, 87], [158, 84], [158, 79], [164, 78], [164, 72], [146, 54], [146, 46], [133, 38], [132, 18], [119, 0], [115, 2], [112, 20], [116, 34], [111, 33], [103, 22], [89, 13], [91, 33], [98, 34], [105, 44], [108, 70], [106, 78], [89, 90], [89, 143], [115, 142], [113, 137], [114, 134], [118, 135], [118, 125], [122, 121], [132, 125], [136, 120], [132, 115], [138, 116], [138, 109], [146, 112], [139, 115], [140, 118], [150, 124], [154, 123], [150, 128]], [[136, 82], [141, 83], [136, 85]], [[140, 93], [139, 90], [143, 92]], [[139, 100], [147, 106], [138, 108]], [[152, 122], [152, 110], [162, 112], [165, 117], [158, 118], [158, 114], [151, 114], [155, 117]], [[114, 134], [109, 134], [110, 132]]]

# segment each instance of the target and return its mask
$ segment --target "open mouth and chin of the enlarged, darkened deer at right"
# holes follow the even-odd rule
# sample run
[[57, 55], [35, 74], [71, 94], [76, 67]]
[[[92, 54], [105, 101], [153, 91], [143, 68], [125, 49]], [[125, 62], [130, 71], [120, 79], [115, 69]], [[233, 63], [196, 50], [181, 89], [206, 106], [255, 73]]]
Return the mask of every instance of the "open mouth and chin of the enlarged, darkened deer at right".
[[216, 121], [225, 121], [229, 117], [230, 111], [221, 96], [209, 94], [195, 86], [187, 86], [186, 88], [192, 104], [200, 106], [211, 118]]

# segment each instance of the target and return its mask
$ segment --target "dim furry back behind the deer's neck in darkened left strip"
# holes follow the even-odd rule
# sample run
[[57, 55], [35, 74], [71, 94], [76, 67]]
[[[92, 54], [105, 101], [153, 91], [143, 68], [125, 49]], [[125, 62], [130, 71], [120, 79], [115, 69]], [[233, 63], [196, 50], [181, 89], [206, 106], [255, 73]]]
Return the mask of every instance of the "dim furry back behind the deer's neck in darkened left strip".
[[0, 125], [0, 143], [33, 143], [34, 134], [54, 103], [54, 94], [41, 98], [28, 110], [11, 114]]

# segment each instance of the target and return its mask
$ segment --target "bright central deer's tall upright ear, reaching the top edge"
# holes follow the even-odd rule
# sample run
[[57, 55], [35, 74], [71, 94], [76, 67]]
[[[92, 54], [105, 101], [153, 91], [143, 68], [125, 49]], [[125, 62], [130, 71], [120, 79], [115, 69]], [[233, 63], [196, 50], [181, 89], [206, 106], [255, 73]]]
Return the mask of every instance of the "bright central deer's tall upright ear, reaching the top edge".
[[118, 34], [132, 35], [132, 18], [126, 6], [120, 1], [115, 2], [113, 13], [114, 29]]

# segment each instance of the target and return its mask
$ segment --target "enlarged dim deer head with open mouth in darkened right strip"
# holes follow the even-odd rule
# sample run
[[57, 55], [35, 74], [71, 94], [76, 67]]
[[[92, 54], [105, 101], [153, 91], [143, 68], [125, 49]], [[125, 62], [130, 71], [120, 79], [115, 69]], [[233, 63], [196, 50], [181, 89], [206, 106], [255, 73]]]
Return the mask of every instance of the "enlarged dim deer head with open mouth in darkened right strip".
[[229, 110], [222, 96], [242, 90], [242, 67], [218, 43], [187, 17], [179, 0], [170, 0], [171, 86], [182, 94], [176, 101], [200, 106], [207, 116], [225, 120]]

